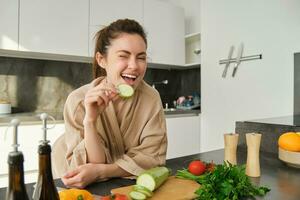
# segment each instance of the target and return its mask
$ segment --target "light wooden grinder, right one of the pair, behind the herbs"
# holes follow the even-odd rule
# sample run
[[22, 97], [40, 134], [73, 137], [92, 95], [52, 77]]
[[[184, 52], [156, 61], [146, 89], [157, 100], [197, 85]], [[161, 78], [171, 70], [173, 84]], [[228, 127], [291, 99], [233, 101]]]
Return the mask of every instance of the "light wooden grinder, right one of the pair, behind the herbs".
[[259, 164], [259, 148], [260, 148], [261, 134], [246, 133], [247, 143], [247, 164], [246, 174], [250, 177], [260, 176]]

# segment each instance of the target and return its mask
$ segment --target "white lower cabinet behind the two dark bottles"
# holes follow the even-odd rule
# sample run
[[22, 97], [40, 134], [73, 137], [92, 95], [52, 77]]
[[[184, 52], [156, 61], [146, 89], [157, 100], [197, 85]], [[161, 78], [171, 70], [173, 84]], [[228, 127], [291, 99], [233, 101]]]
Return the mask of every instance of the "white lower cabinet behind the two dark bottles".
[[[51, 127], [49, 124], [48, 127]], [[48, 130], [47, 139], [50, 144], [56, 141], [56, 139], [64, 133], [65, 126], [63, 123], [56, 124], [53, 129]], [[0, 127], [0, 133], [3, 134], [6, 131], [6, 127]], [[43, 138], [42, 124], [39, 125], [20, 125], [18, 128], [18, 143], [20, 144], [19, 150], [24, 155], [24, 173], [25, 182], [36, 182], [38, 173], [38, 145], [39, 141]], [[8, 183], [8, 165], [7, 157], [8, 153], [12, 151], [12, 128], [7, 130], [6, 140], [0, 140], [0, 187], [6, 187]]]

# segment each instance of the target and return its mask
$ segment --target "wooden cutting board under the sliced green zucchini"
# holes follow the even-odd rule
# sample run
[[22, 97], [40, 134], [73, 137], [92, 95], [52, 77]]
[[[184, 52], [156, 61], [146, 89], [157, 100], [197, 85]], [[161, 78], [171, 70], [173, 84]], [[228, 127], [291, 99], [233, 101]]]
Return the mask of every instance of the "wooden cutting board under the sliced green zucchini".
[[[191, 200], [195, 199], [194, 192], [200, 187], [200, 185], [192, 180], [180, 179], [174, 176], [170, 176], [166, 182], [161, 185], [149, 200]], [[120, 187], [111, 190], [111, 193], [121, 193], [127, 195], [129, 199], [129, 193], [132, 191], [132, 186]]]

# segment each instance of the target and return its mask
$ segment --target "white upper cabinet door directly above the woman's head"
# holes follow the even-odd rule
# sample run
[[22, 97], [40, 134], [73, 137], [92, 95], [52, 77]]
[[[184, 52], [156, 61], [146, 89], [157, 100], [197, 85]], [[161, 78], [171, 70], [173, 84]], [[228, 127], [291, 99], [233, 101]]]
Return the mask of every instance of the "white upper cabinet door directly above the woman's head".
[[90, 25], [108, 25], [117, 19], [135, 19], [142, 23], [142, 0], [90, 0]]

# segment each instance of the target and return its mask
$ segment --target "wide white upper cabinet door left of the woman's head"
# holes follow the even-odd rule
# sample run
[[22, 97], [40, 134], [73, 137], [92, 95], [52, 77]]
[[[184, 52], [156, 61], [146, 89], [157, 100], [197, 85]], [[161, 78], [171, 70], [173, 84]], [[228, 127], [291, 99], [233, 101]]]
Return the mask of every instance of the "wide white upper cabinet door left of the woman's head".
[[88, 55], [87, 0], [20, 1], [19, 50]]

